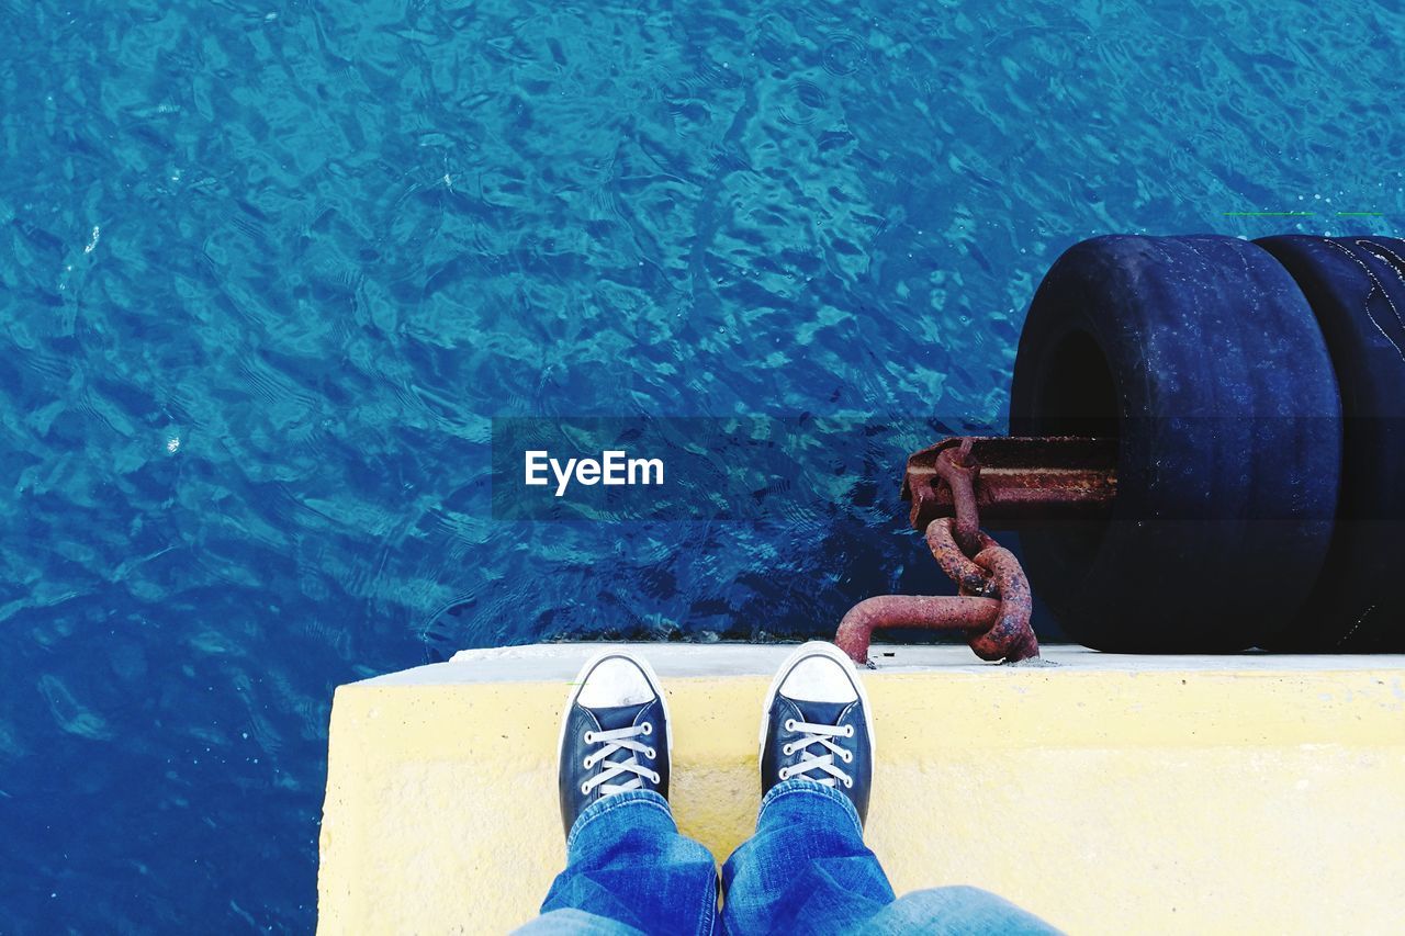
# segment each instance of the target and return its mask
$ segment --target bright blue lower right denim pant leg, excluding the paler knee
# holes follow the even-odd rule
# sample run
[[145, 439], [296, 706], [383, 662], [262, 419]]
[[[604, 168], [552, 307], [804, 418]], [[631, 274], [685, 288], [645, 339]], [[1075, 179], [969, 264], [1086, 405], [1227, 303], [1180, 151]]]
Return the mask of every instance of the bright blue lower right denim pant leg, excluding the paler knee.
[[837, 933], [892, 902], [849, 797], [783, 780], [762, 800], [756, 835], [722, 867], [728, 933]]

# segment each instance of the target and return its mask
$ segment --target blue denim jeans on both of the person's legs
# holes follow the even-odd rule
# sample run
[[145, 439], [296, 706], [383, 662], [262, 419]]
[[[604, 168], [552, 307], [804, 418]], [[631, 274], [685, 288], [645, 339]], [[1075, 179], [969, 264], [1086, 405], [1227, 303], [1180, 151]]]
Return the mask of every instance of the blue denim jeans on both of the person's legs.
[[804, 779], [762, 800], [756, 835], [726, 860], [722, 888], [719, 914], [712, 854], [679, 833], [663, 797], [632, 790], [580, 814], [566, 870], [518, 933], [1057, 932], [974, 887], [895, 898], [853, 804]]

